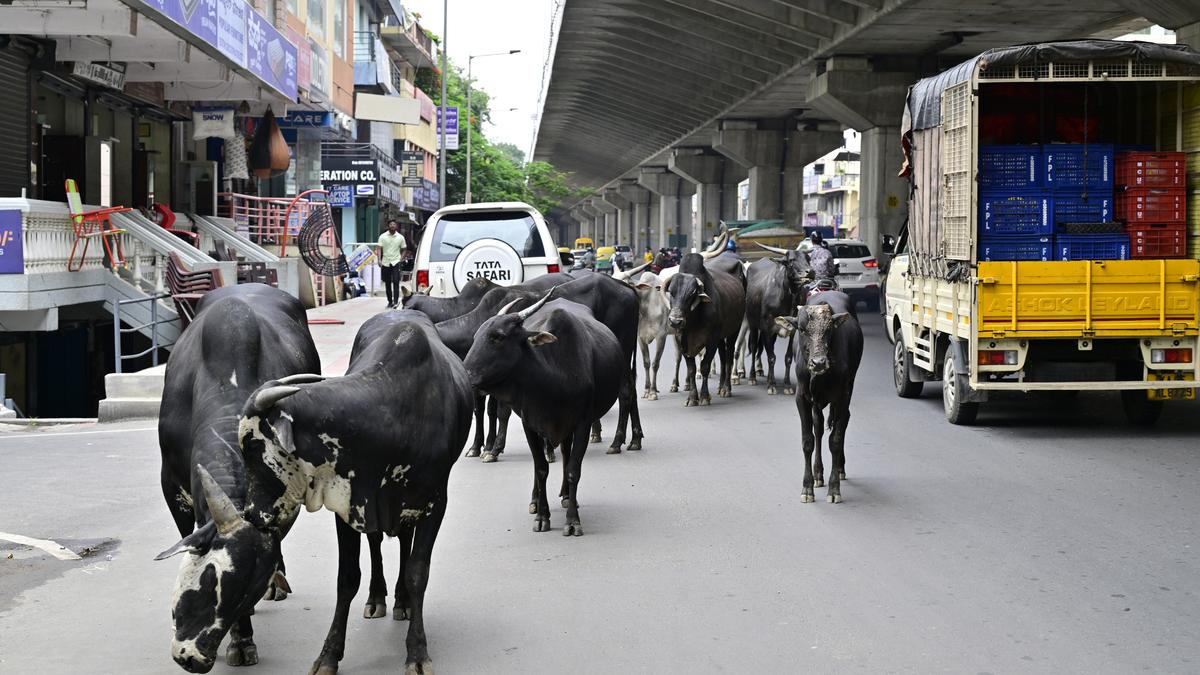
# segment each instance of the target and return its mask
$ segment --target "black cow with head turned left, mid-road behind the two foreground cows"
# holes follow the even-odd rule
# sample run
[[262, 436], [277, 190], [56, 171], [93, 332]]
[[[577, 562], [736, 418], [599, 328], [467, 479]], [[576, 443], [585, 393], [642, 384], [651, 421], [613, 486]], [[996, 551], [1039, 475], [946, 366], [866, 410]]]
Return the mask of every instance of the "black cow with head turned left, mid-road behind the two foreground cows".
[[470, 383], [521, 416], [534, 461], [534, 532], [550, 530], [545, 443], [562, 446], [566, 508], [563, 536], [583, 534], [578, 483], [593, 420], [617, 401], [630, 362], [617, 336], [588, 307], [571, 300], [538, 303], [487, 319], [467, 354]]

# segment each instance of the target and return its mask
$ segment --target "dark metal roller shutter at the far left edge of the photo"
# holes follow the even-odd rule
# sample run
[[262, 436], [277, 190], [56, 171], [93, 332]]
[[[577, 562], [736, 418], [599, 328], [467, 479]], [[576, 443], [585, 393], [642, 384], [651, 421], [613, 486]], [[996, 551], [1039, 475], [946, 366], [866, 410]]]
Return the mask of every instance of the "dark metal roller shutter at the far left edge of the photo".
[[0, 49], [0, 197], [19, 197], [29, 186], [29, 56]]

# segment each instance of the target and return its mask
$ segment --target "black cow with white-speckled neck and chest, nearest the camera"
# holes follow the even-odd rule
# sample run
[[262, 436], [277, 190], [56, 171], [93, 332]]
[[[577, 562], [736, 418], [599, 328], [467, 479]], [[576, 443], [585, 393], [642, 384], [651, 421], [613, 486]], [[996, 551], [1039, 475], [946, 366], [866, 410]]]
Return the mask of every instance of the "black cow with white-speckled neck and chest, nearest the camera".
[[239, 436], [246, 471], [256, 477], [248, 528], [278, 537], [276, 524], [301, 504], [337, 514], [337, 603], [311, 673], [337, 671], [361, 579], [359, 534], [376, 532], [401, 539], [395, 614], [409, 620], [406, 673], [432, 673], [425, 587], [472, 407], [462, 362], [428, 317], [410, 310], [362, 324], [344, 377], [305, 387], [268, 383], [246, 402]]

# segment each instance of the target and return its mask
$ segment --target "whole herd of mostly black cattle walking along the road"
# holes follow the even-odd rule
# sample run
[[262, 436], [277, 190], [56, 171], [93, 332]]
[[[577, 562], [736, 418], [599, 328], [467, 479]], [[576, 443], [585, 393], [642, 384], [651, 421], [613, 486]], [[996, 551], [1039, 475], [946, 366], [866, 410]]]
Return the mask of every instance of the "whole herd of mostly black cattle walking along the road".
[[536, 532], [551, 528], [546, 478], [554, 450], [562, 453], [563, 534], [581, 536], [587, 446], [600, 440], [600, 418], [616, 402], [608, 452], [642, 448], [636, 351], [646, 369], [642, 398], [656, 399], [667, 338], [677, 345], [671, 390], [679, 388], [682, 359], [688, 406], [710, 404], [718, 356], [718, 396], [730, 396], [744, 375], [744, 352], [751, 383], [762, 376], [766, 354], [774, 394], [774, 342], [787, 338], [784, 392], [792, 393], [794, 358], [802, 498], [814, 501], [814, 488], [823, 484], [828, 408], [828, 496], [840, 502], [863, 350], [853, 304], [838, 292], [806, 295], [811, 273], [798, 251], [772, 249], [778, 257], [746, 265], [721, 253], [724, 244], [719, 239], [661, 275], [551, 274], [511, 287], [476, 279], [456, 298], [409, 295], [404, 309], [361, 327], [342, 377], [317, 375], [320, 363], [296, 299], [260, 285], [206, 294], [167, 364], [158, 425], [163, 496], [182, 537], [158, 558], [187, 554], [172, 597], [175, 662], [206, 673], [226, 633], [229, 665], [258, 662], [251, 615], [258, 601], [290, 592], [280, 544], [304, 506], [338, 516], [336, 610], [311, 673], [337, 671], [365, 533], [371, 580], [364, 616], [386, 615], [379, 549], [384, 534], [396, 537], [401, 571], [392, 616], [409, 622], [406, 673], [431, 674], [425, 587], [450, 470], [472, 418], [467, 455], [494, 461], [510, 413], [520, 416], [534, 460], [529, 513]]

